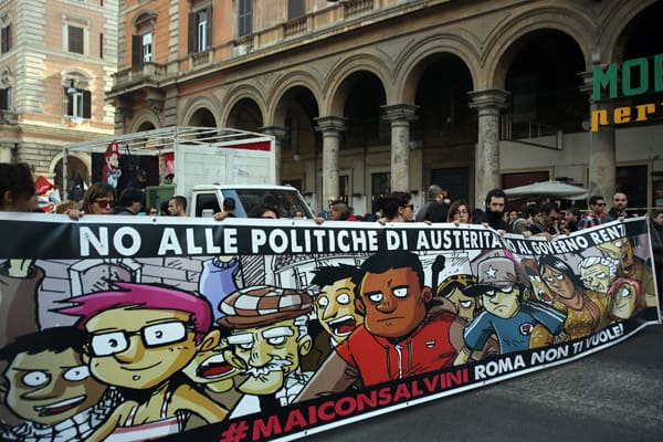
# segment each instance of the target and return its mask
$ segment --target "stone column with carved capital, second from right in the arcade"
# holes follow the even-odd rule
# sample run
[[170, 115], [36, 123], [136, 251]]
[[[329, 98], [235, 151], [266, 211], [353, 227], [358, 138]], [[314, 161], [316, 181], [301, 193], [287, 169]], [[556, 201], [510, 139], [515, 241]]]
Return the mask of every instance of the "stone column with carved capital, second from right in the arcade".
[[478, 143], [474, 165], [474, 207], [483, 208], [491, 189], [501, 187], [499, 180], [499, 112], [509, 93], [502, 90], [469, 92], [470, 107], [478, 113]]

